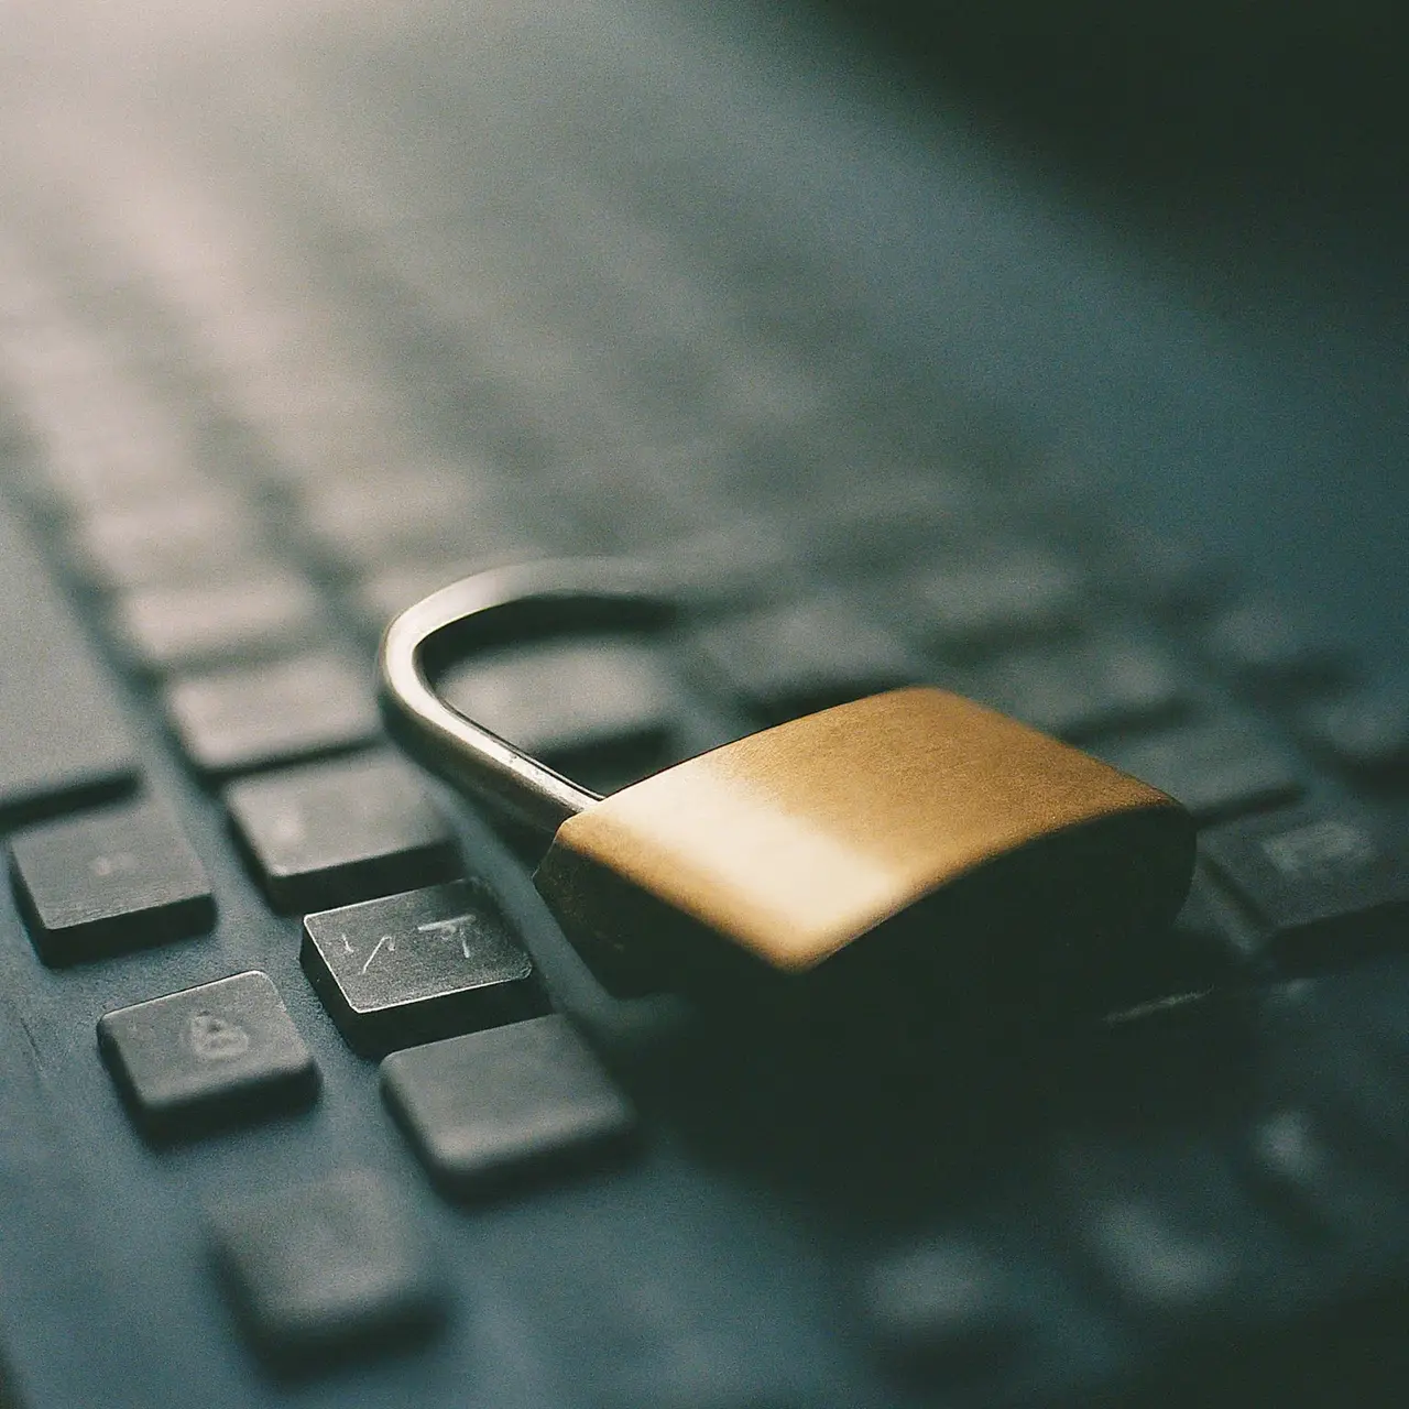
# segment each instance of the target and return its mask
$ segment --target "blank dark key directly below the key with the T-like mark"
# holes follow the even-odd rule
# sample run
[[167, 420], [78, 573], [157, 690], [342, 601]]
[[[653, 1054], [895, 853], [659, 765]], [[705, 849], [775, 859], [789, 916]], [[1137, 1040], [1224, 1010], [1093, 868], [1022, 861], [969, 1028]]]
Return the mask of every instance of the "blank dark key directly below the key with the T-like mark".
[[382, 1092], [431, 1178], [464, 1193], [620, 1146], [635, 1117], [566, 1019], [395, 1053]]

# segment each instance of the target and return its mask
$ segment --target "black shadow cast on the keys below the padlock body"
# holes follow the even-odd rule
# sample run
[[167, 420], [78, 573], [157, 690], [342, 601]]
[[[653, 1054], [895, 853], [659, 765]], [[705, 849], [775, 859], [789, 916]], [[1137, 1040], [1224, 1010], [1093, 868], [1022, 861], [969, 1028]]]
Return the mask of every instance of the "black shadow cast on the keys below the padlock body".
[[1060, 1131], [1206, 1124], [1243, 1099], [1248, 1050], [1231, 996], [1112, 1023], [910, 983], [696, 1012], [613, 1067], [693, 1158], [875, 1230], [982, 1199]]

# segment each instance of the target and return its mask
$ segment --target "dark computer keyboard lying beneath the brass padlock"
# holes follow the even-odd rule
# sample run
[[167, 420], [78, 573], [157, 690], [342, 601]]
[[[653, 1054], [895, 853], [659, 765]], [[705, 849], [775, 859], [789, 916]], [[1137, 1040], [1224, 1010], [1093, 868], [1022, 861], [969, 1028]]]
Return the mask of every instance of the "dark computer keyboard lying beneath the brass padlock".
[[[483, 8], [6, 52], [4, 1402], [1402, 1402], [1395, 499], [1317, 578], [1272, 489], [1336, 387], [803, 34]], [[681, 612], [449, 672], [552, 766], [941, 685], [1191, 809], [1174, 930], [1096, 1013], [609, 992], [373, 697], [557, 558]]]

